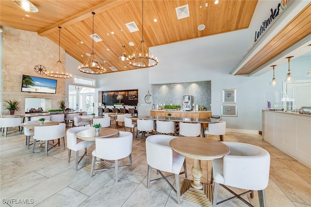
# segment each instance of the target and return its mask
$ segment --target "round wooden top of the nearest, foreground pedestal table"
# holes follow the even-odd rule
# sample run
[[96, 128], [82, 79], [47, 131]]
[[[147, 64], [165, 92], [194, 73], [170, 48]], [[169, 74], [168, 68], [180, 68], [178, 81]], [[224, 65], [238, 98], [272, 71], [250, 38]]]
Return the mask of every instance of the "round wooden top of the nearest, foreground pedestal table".
[[178, 137], [171, 140], [170, 146], [185, 157], [200, 160], [222, 158], [229, 153], [224, 143], [203, 137]]

